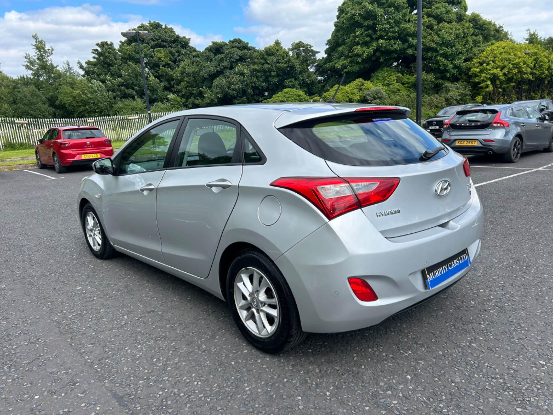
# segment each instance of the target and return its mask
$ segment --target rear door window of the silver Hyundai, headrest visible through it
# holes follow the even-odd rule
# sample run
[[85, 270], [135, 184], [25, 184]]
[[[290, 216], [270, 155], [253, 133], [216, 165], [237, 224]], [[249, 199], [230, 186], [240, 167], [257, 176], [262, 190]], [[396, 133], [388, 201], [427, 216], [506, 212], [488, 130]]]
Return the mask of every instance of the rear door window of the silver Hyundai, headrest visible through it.
[[175, 167], [238, 163], [236, 126], [230, 122], [191, 118], [186, 123]]

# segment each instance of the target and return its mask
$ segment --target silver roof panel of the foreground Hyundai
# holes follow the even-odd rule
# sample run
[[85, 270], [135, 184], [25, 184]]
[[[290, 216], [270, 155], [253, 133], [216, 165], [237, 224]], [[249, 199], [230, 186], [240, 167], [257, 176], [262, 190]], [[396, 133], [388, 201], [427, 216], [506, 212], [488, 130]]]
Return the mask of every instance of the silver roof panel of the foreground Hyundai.
[[[244, 123], [263, 122], [273, 124], [276, 128], [284, 127], [296, 122], [341, 115], [353, 112], [358, 108], [380, 107], [381, 105], [360, 104], [360, 103], [326, 103], [326, 102], [275, 102], [275, 103], [252, 103], [240, 105], [225, 105], [220, 107], [194, 108], [175, 112], [163, 118], [190, 115], [211, 115], [233, 118], [244, 125]], [[411, 113], [409, 108], [397, 107], [407, 115]], [[161, 120], [161, 118], [160, 118]], [[244, 125], [246, 128], [247, 126]]]

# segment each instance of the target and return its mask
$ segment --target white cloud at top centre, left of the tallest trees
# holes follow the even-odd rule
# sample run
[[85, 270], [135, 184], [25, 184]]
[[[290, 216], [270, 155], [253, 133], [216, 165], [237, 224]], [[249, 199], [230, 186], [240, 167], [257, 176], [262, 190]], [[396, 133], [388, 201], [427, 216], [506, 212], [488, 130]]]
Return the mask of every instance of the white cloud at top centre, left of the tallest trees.
[[234, 30], [255, 35], [257, 46], [267, 46], [279, 39], [288, 47], [302, 40], [322, 55], [341, 3], [342, 0], [249, 0], [244, 14], [253, 25]]

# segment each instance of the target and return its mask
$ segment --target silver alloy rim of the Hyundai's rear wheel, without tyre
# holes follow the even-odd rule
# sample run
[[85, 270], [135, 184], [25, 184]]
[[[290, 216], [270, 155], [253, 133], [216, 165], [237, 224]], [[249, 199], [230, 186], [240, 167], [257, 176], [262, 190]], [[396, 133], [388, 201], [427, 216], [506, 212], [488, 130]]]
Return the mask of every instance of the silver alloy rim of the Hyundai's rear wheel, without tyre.
[[258, 269], [242, 268], [234, 279], [234, 304], [249, 331], [260, 338], [274, 334], [280, 307], [273, 284]]

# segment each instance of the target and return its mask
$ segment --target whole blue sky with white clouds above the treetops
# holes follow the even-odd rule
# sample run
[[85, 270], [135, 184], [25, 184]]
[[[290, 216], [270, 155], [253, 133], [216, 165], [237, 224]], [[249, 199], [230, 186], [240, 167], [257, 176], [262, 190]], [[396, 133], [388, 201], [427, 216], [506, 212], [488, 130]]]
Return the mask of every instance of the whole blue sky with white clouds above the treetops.
[[[38, 33], [54, 46], [54, 62], [76, 65], [100, 40], [117, 43], [119, 32], [158, 20], [203, 49], [213, 40], [242, 38], [263, 47], [303, 40], [321, 53], [342, 0], [0, 0], [0, 69], [24, 74], [23, 56]], [[517, 40], [526, 28], [553, 35], [551, 0], [467, 0], [469, 11], [503, 24]]]

